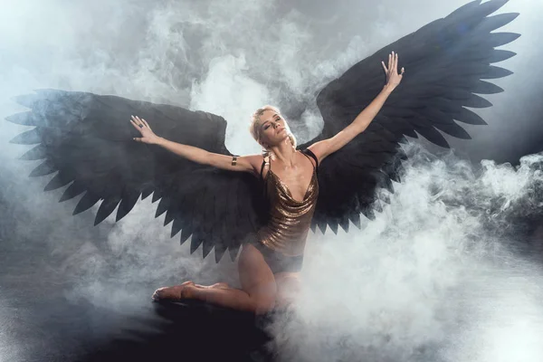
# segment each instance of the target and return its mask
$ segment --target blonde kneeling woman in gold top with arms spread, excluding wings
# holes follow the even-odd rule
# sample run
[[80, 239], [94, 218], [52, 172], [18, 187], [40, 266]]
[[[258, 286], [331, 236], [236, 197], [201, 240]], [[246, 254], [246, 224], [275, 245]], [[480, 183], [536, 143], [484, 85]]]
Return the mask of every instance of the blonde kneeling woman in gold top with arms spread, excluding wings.
[[256, 314], [291, 301], [299, 287], [303, 248], [319, 193], [316, 177], [319, 163], [367, 129], [387, 97], [402, 81], [404, 68], [398, 74], [397, 63], [395, 52], [389, 54], [388, 66], [382, 62], [386, 85], [347, 128], [301, 152], [296, 150], [296, 140], [285, 119], [271, 106], [256, 110], [251, 123], [252, 137], [265, 152], [243, 157], [210, 153], [160, 138], [145, 119], [132, 116], [130, 122], [141, 133], [141, 138], [134, 138], [136, 141], [156, 144], [196, 163], [262, 177], [270, 202], [268, 224], [259, 231], [259, 240], [244, 244], [239, 256], [241, 289], [231, 288], [225, 283], [202, 286], [186, 281], [158, 289], [153, 299], [204, 300]]

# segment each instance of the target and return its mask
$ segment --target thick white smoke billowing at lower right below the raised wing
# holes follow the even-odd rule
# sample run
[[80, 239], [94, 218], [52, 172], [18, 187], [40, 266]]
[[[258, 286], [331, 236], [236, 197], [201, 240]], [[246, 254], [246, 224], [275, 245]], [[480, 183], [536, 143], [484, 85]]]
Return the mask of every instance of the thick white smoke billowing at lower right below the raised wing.
[[375, 221], [311, 238], [296, 310], [271, 328], [281, 360], [537, 361], [543, 274], [510, 249], [529, 238], [510, 217], [541, 220], [543, 156], [477, 171], [407, 152]]

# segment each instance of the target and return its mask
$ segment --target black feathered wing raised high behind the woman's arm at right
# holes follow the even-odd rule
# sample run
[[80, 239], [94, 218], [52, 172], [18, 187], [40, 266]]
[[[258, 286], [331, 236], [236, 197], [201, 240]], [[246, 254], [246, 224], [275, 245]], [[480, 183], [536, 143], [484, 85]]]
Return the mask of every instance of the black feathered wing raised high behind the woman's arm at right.
[[491, 33], [510, 23], [518, 14], [488, 16], [507, 0], [481, 4], [473, 1], [449, 16], [426, 24], [418, 31], [392, 43], [367, 59], [357, 62], [331, 81], [317, 97], [324, 119], [321, 134], [310, 144], [334, 136], [364, 110], [385, 84], [381, 61], [395, 51], [405, 67], [401, 84], [366, 131], [346, 147], [325, 158], [319, 167], [319, 200], [313, 218], [324, 233], [327, 225], [336, 233], [346, 231], [349, 220], [360, 225], [360, 214], [373, 217], [376, 188], [392, 190], [390, 179], [402, 157], [399, 143], [417, 133], [442, 147], [448, 147], [442, 131], [456, 138], [470, 138], [455, 120], [486, 124], [470, 108], [490, 107], [476, 94], [502, 91], [489, 79], [511, 72], [491, 65], [509, 59], [514, 52], [494, 49], [519, 37], [516, 33]]

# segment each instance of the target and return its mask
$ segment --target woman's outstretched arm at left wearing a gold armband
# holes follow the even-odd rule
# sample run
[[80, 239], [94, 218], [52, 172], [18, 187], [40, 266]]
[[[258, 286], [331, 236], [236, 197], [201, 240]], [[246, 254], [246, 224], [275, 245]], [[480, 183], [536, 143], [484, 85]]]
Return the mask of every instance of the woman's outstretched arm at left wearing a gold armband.
[[130, 122], [138, 129], [139, 133], [141, 133], [140, 138], [134, 138], [135, 141], [166, 148], [177, 156], [184, 157], [199, 164], [231, 171], [245, 171], [256, 174], [258, 165], [262, 161], [262, 156], [260, 155], [239, 156], [236, 157], [234, 161], [231, 156], [209, 152], [202, 148], [195, 148], [193, 146], [183, 145], [166, 138], [158, 137], [149, 127], [148, 122], [145, 119], [132, 116]]

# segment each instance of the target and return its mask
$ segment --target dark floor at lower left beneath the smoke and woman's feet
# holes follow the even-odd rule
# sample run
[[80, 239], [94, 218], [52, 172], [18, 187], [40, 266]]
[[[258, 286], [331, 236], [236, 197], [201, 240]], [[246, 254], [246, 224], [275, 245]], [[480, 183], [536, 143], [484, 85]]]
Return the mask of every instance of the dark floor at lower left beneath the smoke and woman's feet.
[[[5, 266], [5, 264], [4, 264]], [[3, 268], [5, 270], [5, 268]], [[270, 360], [264, 319], [205, 305], [157, 303], [137, 312], [68, 300], [32, 272], [0, 278], [0, 359], [9, 361]], [[136, 293], [135, 298], [140, 298]], [[143, 299], [141, 299], [143, 300]]]

